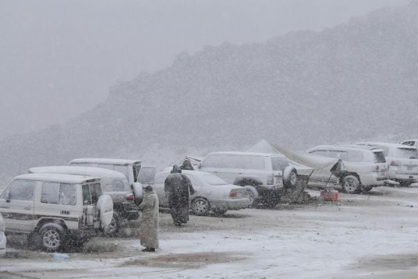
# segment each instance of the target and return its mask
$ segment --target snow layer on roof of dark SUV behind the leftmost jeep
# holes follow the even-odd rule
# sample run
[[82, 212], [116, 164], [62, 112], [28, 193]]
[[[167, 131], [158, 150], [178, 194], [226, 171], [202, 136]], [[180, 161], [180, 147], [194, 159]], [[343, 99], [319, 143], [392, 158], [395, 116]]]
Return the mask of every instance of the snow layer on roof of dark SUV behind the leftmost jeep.
[[120, 177], [125, 178], [121, 172], [111, 169], [103, 169], [101, 167], [79, 167], [79, 166], [50, 166], [50, 167], [31, 167], [29, 173], [49, 173], [49, 174], [72, 174], [72, 175], [88, 175], [97, 177]]

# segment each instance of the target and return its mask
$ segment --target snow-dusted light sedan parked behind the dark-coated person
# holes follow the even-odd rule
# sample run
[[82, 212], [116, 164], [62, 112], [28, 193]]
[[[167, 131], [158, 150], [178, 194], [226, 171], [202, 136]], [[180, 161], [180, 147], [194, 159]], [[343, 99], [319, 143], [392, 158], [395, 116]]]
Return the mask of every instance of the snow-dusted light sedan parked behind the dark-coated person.
[[[250, 204], [247, 190], [243, 187], [228, 184], [208, 172], [183, 170], [182, 173], [190, 179], [196, 191], [190, 196], [190, 209], [196, 215], [210, 211], [223, 214], [228, 210], [244, 209]], [[169, 171], [164, 171], [155, 176], [155, 193], [162, 207], [169, 204], [164, 193], [164, 181], [169, 174]]]

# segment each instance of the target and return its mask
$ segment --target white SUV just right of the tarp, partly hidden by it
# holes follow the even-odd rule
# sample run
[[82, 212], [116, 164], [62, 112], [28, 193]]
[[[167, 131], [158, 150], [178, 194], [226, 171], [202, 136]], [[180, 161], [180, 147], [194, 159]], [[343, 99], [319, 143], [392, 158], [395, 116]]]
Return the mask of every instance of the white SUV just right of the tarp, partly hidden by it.
[[377, 147], [355, 144], [320, 145], [309, 149], [307, 153], [340, 159], [346, 167], [346, 172], [341, 177], [332, 176], [326, 169], [314, 172], [309, 179], [309, 184], [313, 186], [332, 186], [344, 193], [359, 193], [382, 186], [389, 179], [389, 166], [383, 150]]

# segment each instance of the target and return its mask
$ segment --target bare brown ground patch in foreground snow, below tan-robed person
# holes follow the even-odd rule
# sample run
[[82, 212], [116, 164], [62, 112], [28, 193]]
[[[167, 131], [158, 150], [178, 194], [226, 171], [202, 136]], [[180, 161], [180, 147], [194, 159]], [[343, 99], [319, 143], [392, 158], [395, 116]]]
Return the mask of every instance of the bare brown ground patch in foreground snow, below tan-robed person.
[[122, 266], [139, 265], [160, 268], [191, 269], [206, 266], [208, 264], [221, 264], [236, 262], [246, 259], [234, 252], [196, 252], [183, 254], [169, 254], [146, 259], [135, 259], [121, 264]]

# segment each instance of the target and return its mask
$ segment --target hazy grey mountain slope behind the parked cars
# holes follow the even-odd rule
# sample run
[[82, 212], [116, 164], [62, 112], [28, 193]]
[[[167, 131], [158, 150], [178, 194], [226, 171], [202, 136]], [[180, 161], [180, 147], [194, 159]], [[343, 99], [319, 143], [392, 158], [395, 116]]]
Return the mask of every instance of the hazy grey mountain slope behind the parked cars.
[[417, 105], [412, 1], [318, 33], [180, 54], [165, 70], [114, 86], [104, 103], [69, 123], [3, 140], [0, 180], [76, 157], [153, 154], [159, 163], [170, 152], [240, 149], [262, 138], [307, 149], [413, 137]]

